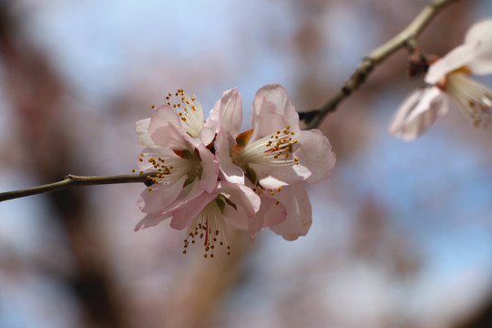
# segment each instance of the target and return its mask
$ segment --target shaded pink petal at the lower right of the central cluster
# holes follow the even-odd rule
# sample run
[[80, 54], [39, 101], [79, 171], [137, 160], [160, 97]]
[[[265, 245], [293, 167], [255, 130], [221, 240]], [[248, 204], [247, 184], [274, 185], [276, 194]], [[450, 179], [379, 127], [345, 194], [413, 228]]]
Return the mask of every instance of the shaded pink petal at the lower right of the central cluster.
[[311, 202], [306, 190], [301, 184], [286, 186], [279, 192], [279, 197], [287, 210], [287, 217], [270, 229], [287, 241], [295, 241], [299, 236], [305, 236], [313, 220]]

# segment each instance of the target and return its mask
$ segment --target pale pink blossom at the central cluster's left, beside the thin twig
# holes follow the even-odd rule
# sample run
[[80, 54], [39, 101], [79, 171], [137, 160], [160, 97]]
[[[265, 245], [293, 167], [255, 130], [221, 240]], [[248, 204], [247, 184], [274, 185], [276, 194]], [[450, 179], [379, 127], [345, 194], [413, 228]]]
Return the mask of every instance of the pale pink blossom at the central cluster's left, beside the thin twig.
[[215, 131], [203, 123], [201, 107], [193, 97], [184, 95], [182, 90], [177, 94], [182, 97], [181, 105], [168, 101], [171, 105], [158, 108], [152, 118], [136, 125], [138, 143], [145, 147], [138, 169], [142, 173], [158, 173], [152, 179], [154, 184], [142, 192], [138, 201], [145, 213], [165, 212], [176, 202], [211, 192], [217, 184], [218, 162], [207, 148]]

